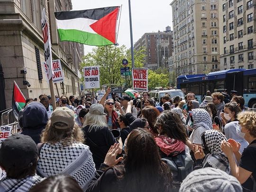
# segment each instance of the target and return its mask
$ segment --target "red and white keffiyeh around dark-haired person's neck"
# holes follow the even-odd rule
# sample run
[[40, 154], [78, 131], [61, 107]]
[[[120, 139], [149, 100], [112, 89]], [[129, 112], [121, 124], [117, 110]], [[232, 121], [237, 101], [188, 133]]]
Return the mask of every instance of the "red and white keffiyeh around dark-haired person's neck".
[[170, 137], [166, 137], [164, 135], [156, 136], [155, 142], [160, 150], [167, 156], [175, 156], [185, 150], [185, 144], [182, 141], [171, 139]]

